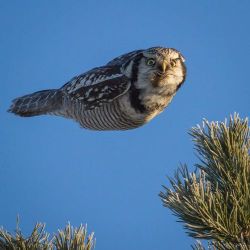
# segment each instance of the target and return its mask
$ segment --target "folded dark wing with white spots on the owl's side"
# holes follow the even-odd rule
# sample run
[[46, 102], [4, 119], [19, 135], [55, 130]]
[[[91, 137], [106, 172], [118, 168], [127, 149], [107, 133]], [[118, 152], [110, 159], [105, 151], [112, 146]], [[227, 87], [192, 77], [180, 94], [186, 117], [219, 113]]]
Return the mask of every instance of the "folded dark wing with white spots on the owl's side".
[[129, 79], [120, 67], [100, 67], [73, 78], [62, 87], [71, 101], [79, 102], [85, 110], [100, 107], [125, 94]]

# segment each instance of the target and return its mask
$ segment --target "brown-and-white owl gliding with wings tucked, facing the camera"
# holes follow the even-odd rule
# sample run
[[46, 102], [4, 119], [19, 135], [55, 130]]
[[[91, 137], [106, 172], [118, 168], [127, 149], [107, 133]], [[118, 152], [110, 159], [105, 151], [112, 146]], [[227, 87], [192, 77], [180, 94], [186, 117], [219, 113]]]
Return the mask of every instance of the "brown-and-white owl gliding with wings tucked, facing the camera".
[[133, 129], [160, 114], [185, 77], [184, 57], [176, 49], [135, 50], [59, 89], [16, 98], [8, 111], [23, 117], [63, 116], [92, 130]]

